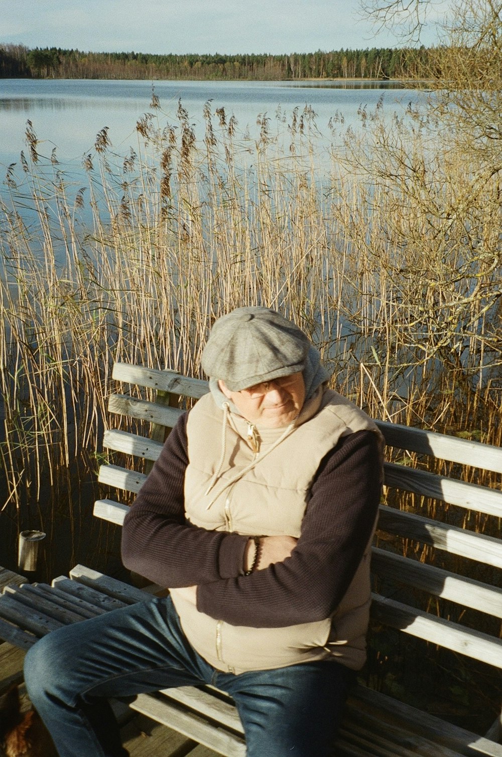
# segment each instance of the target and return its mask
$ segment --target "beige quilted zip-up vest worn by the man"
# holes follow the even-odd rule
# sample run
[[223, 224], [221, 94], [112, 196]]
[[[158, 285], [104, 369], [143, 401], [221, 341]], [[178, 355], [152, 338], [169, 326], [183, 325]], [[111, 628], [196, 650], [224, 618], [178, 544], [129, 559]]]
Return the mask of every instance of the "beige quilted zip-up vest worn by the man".
[[[283, 438], [284, 428], [260, 430], [254, 453], [245, 419], [226, 416], [212, 395], [205, 395], [187, 422], [187, 519], [212, 530], [299, 537], [320, 461], [341, 436], [363, 429], [379, 434], [362, 410], [320, 388], [305, 403], [294, 431]], [[198, 612], [176, 589], [171, 595], [189, 642], [219, 670], [240, 673], [329, 657], [359, 669], [365, 660], [369, 544], [345, 597], [324, 621], [286, 628], [234, 626]]]

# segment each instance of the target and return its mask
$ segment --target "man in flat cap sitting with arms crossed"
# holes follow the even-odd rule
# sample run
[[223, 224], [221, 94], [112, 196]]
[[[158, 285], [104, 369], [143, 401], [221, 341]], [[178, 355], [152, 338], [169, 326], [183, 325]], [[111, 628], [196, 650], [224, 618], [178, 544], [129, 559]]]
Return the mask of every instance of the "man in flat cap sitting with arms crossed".
[[234, 699], [248, 757], [326, 755], [365, 659], [382, 438], [264, 307], [214, 324], [210, 393], [173, 428], [123, 524], [169, 597], [44, 637], [27, 687], [61, 757], [126, 755], [106, 702], [188, 684]]

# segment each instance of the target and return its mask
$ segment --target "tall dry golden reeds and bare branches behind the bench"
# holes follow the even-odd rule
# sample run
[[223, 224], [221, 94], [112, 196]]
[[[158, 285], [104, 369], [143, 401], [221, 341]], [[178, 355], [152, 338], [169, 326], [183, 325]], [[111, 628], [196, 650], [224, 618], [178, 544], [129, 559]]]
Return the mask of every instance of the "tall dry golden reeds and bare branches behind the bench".
[[200, 375], [212, 322], [246, 304], [295, 319], [374, 416], [500, 444], [497, 177], [416, 111], [360, 118], [329, 142], [310, 108], [278, 111], [251, 139], [207, 104], [197, 140], [154, 97], [125, 157], [99, 132], [83, 185], [29, 124], [2, 201], [9, 508], [92, 466], [114, 360]]

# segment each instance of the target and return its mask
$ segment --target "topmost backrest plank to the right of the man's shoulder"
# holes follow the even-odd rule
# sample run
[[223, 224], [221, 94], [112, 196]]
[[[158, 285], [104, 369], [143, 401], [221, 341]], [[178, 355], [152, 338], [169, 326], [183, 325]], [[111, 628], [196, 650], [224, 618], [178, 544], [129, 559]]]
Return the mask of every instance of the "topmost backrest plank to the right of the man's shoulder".
[[458, 439], [435, 431], [376, 420], [386, 444], [401, 450], [433, 455], [441, 460], [462, 463], [502, 473], [502, 450], [492, 444]]

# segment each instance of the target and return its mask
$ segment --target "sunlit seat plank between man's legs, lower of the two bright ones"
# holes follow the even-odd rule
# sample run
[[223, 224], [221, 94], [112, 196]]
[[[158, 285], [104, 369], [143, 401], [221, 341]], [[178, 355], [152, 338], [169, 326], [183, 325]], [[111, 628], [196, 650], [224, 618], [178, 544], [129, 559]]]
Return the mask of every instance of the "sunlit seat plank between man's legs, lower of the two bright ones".
[[186, 712], [175, 702], [168, 702], [165, 697], [161, 699], [151, 694], [139, 694], [131, 702], [130, 707], [164, 725], [176, 728], [176, 731], [197, 740], [204, 746], [209, 746], [219, 754], [227, 755], [227, 757], [234, 757], [234, 755], [244, 757], [245, 755], [245, 743], [242, 737], [230, 734], [223, 730], [223, 727], [215, 727], [214, 724], [208, 723], [195, 713]]

